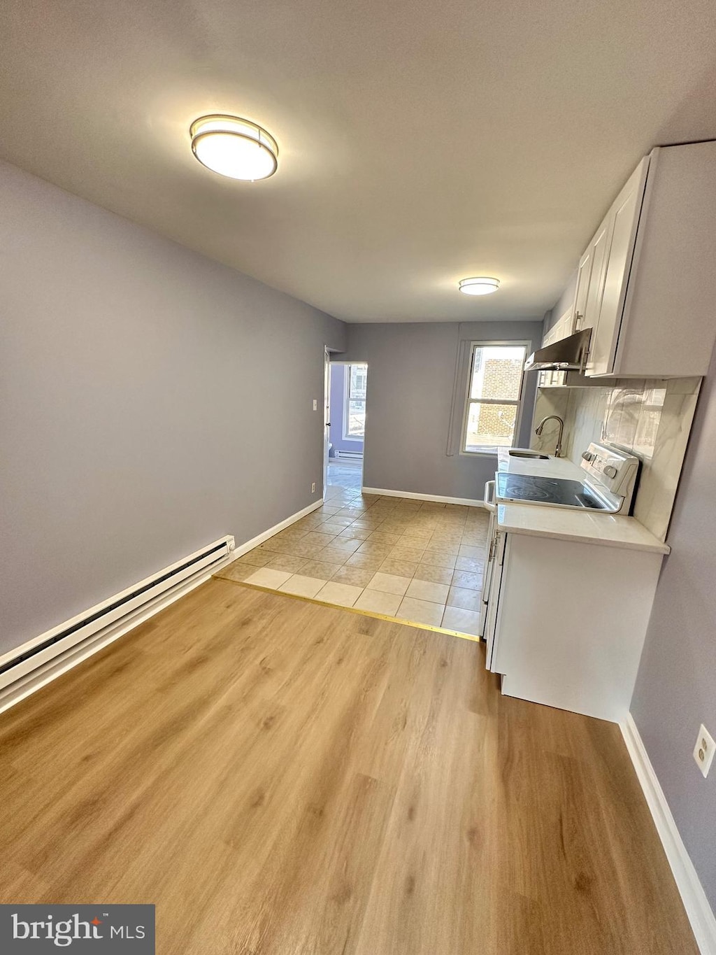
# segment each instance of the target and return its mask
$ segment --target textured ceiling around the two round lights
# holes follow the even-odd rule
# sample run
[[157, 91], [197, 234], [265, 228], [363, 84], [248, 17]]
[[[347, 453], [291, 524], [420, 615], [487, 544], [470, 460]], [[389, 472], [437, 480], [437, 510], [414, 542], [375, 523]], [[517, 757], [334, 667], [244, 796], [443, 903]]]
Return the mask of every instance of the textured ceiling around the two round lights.
[[[347, 321], [540, 318], [642, 154], [716, 138], [715, 36], [712, 0], [3, 0], [0, 155]], [[200, 166], [211, 112], [277, 175]]]

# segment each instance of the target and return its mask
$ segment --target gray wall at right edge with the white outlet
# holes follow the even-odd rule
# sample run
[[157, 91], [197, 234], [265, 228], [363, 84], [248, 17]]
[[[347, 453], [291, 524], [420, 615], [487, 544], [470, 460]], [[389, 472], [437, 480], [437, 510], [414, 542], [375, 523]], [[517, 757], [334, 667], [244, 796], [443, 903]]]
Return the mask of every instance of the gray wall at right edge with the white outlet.
[[632, 715], [716, 910], [716, 764], [699, 773], [701, 723], [716, 736], [716, 352], [686, 452]]

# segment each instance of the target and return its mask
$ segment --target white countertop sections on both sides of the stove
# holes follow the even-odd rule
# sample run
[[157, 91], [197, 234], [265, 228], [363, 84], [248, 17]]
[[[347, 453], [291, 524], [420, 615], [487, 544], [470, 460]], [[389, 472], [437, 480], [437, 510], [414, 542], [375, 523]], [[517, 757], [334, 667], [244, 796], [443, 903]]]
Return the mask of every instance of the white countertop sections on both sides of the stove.
[[[497, 468], [511, 474], [535, 477], [566, 477], [582, 480], [584, 472], [568, 458], [548, 460], [511, 457], [508, 448], [497, 452]], [[497, 526], [511, 534], [551, 537], [560, 541], [582, 541], [606, 547], [648, 550], [668, 554], [670, 547], [655, 537], [636, 518], [623, 518], [598, 511], [571, 510], [542, 504], [498, 504]]]

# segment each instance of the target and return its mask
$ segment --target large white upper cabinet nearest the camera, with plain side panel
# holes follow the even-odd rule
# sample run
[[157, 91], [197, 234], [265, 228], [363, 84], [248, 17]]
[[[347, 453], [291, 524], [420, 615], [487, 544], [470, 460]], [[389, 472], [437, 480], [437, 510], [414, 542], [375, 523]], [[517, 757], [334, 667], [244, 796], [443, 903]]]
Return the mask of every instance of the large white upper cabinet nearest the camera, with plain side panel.
[[585, 373], [704, 375], [716, 340], [715, 248], [716, 142], [654, 149], [579, 261], [571, 330], [593, 329]]

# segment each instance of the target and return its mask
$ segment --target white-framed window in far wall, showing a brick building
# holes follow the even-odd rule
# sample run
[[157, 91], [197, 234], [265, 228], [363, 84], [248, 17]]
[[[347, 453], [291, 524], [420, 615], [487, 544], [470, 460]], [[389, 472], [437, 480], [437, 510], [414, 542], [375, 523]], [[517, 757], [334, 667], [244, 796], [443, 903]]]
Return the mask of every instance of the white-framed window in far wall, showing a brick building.
[[463, 454], [495, 454], [515, 443], [526, 351], [521, 344], [472, 343]]

